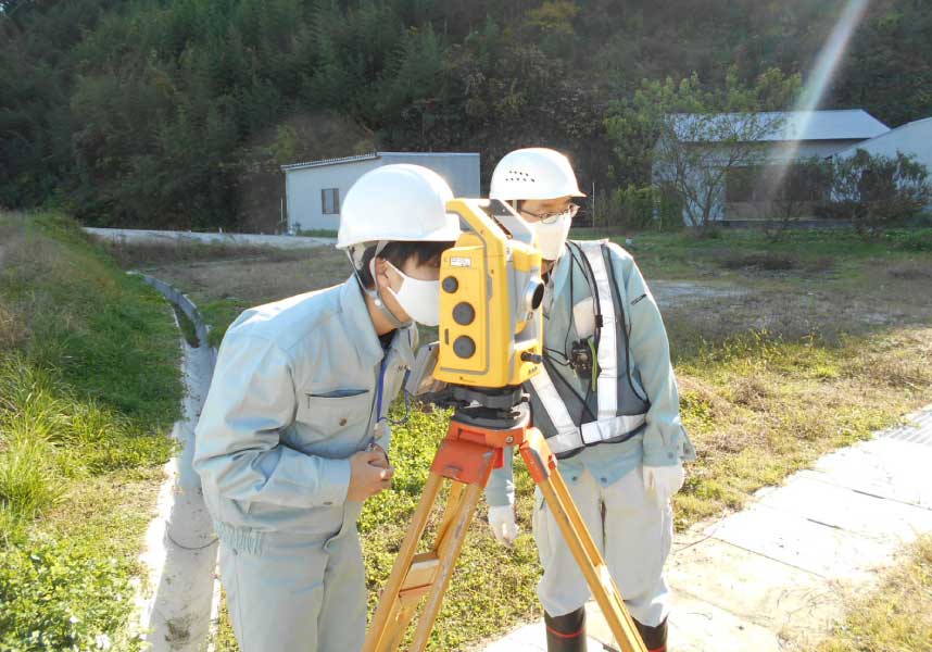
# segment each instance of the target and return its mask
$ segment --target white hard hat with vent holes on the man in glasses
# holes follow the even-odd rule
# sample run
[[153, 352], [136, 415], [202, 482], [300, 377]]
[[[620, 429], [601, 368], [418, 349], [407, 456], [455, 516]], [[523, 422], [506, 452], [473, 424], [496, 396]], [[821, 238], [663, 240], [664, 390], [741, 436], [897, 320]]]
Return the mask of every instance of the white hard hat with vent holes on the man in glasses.
[[531, 147], [508, 152], [492, 172], [490, 199], [557, 199], [585, 197], [579, 190], [572, 166], [552, 149]]

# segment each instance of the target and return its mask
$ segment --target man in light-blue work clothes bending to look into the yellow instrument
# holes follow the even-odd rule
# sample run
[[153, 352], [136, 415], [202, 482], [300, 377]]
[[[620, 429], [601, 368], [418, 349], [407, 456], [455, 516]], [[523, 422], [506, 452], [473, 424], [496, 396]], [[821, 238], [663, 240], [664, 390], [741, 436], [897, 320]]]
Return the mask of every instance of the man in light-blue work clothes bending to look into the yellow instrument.
[[387, 165], [350, 189], [342, 285], [245, 311], [221, 346], [194, 468], [242, 652], [347, 652], [365, 638], [356, 519], [391, 484], [388, 408], [436, 325], [459, 235], [436, 173]]

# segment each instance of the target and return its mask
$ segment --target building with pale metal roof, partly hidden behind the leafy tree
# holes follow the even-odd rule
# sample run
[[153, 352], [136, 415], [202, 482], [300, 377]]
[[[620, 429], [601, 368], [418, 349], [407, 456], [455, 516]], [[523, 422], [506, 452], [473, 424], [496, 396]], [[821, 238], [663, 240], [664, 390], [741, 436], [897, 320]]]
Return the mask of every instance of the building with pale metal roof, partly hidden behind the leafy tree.
[[[711, 193], [710, 220], [768, 220], [772, 205], [773, 178], [785, 178], [786, 192], [798, 193], [803, 200], [813, 188], [805, 175], [786, 175], [786, 165], [811, 159], [826, 159], [851, 149], [866, 140], [890, 131], [890, 127], [864, 110], [786, 111], [768, 113], [721, 113], [715, 115], [669, 115], [677, 143], [683, 155], [680, 164], [703, 166], [702, 170], [675, 171], [671, 165], [655, 163], [654, 184], [670, 184], [679, 174], [688, 179], [693, 205]], [[745, 136], [753, 135], [753, 136]], [[738, 145], [736, 145], [738, 142]], [[743, 156], [735, 160], [735, 151], [744, 147]], [[664, 148], [669, 141], [660, 139], [655, 159], [669, 161]], [[753, 153], [747, 153], [753, 152]], [[725, 177], [714, 174], [728, 166]], [[709, 173], [713, 174], [709, 174]], [[706, 179], [717, 178], [713, 186]], [[703, 184], [706, 184], [703, 186]], [[708, 190], [711, 188], [711, 190]], [[782, 191], [782, 190], [781, 190]], [[696, 198], [700, 198], [698, 200]], [[695, 211], [694, 211], [695, 212]], [[690, 224], [689, 211], [683, 209], [683, 221]]]

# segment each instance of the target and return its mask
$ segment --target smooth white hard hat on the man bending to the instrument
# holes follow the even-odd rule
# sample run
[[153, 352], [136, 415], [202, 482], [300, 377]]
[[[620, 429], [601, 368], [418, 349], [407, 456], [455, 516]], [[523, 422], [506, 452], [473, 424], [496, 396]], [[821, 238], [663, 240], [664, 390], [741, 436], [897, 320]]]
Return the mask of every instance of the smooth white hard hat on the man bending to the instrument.
[[459, 217], [446, 212], [453, 190], [420, 165], [383, 165], [367, 172], [347, 192], [337, 248], [388, 240], [452, 242]]

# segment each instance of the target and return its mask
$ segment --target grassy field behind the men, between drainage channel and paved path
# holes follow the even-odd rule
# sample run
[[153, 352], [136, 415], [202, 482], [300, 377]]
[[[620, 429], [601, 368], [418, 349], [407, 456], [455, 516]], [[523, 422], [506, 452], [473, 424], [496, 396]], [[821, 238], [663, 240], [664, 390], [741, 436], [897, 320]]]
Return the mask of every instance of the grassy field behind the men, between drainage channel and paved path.
[[[792, 231], [777, 243], [754, 231], [703, 240], [644, 234], [628, 248], [662, 305], [683, 419], [700, 451], [676, 498], [678, 528], [740, 509], [756, 489], [932, 402], [932, 230], [894, 231], [874, 243], [847, 230]], [[144, 262], [191, 293], [218, 341], [243, 308], [349, 275], [333, 250], [290, 255]], [[126, 260], [133, 264], [131, 252]], [[361, 523], [373, 594], [444, 429], [442, 414], [416, 414], [395, 429], [394, 489], [369, 501]], [[468, 648], [540, 615], [531, 487], [522, 472], [517, 481], [525, 534], [515, 548], [499, 548], [480, 515], [434, 649]]]

